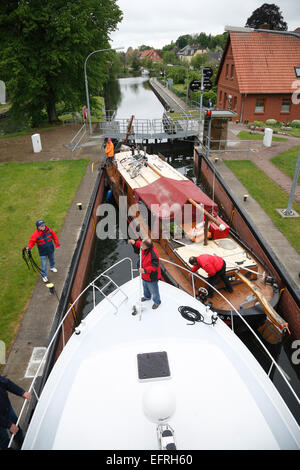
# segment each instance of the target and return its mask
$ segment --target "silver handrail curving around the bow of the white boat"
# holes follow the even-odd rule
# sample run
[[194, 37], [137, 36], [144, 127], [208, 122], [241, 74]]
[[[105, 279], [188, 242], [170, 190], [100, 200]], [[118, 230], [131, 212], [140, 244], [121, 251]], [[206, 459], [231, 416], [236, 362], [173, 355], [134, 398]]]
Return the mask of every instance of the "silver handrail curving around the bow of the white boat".
[[[270, 366], [270, 368], [269, 368], [269, 371], [268, 371], [268, 373], [267, 373], [267, 376], [270, 377], [271, 370], [272, 370], [273, 366], [275, 366], [276, 369], [277, 369], [277, 371], [278, 371], [278, 372], [280, 373], [280, 375], [282, 376], [284, 382], [285, 382], [286, 385], [288, 386], [290, 392], [293, 394], [294, 398], [296, 399], [298, 405], [300, 405], [300, 399], [299, 399], [299, 397], [296, 395], [296, 393], [295, 393], [294, 389], [292, 388], [292, 386], [289, 384], [288, 380], [286, 379], [286, 377], [285, 377], [285, 375], [284, 375], [284, 372], [281, 370], [281, 367], [276, 363], [275, 359], [271, 356], [271, 354], [269, 353], [269, 351], [267, 350], [267, 348], [265, 347], [265, 345], [262, 343], [262, 341], [259, 339], [259, 337], [258, 337], [257, 334], [255, 333], [255, 331], [254, 331], [254, 330], [251, 328], [251, 326], [246, 322], [246, 320], [245, 320], [245, 319], [243, 318], [243, 316], [237, 311], [237, 309], [232, 305], [232, 303], [231, 303], [226, 297], [224, 297], [221, 292], [219, 292], [213, 285], [211, 285], [208, 281], [206, 281], [206, 280], [205, 280], [203, 277], [201, 277], [199, 274], [193, 273], [193, 272], [190, 271], [189, 269], [187, 269], [187, 268], [185, 268], [185, 267], [183, 267], [183, 266], [180, 266], [180, 265], [174, 263], [173, 261], [166, 260], [166, 259], [164, 259], [164, 258], [160, 258], [160, 260], [161, 260], [162, 262], [164, 262], [164, 263], [169, 263], [169, 264], [171, 264], [171, 265], [173, 265], [173, 266], [176, 266], [177, 268], [179, 268], [179, 269], [181, 269], [181, 270], [183, 270], [183, 271], [186, 271], [186, 272], [188, 272], [188, 273], [191, 275], [191, 277], [192, 277], [192, 286], [193, 286], [193, 297], [194, 297], [194, 298], [196, 297], [195, 284], [194, 284], [194, 277], [196, 277], [196, 278], [200, 279], [201, 281], [204, 281], [205, 284], [207, 284], [208, 286], [210, 286], [216, 293], [218, 293], [218, 294], [222, 297], [223, 300], [225, 300], [225, 301], [228, 303], [228, 305], [229, 305], [230, 308], [231, 308], [231, 320], [232, 320], [232, 321], [231, 321], [231, 325], [232, 325], [232, 330], [234, 331], [234, 322], [233, 322], [233, 314], [232, 314], [232, 311], [235, 311], [235, 313], [236, 313], [236, 314], [239, 316], [239, 318], [244, 322], [244, 324], [246, 325], [246, 327], [251, 331], [251, 333], [252, 333], [252, 334], [254, 335], [254, 337], [257, 339], [257, 341], [259, 342], [259, 344], [262, 346], [264, 352], [267, 354], [267, 356], [268, 356], [269, 359], [271, 360], [271, 366]], [[107, 299], [108, 296], [106, 296], [106, 295], [102, 292], [102, 290], [103, 290], [108, 284], [107, 284], [104, 288], [102, 288], [102, 290], [101, 290], [101, 289], [99, 289], [99, 288], [95, 285], [95, 283], [96, 283], [101, 277], [109, 278], [109, 276], [107, 276], [106, 273], [107, 273], [108, 271], [110, 271], [111, 269], [115, 268], [116, 266], [118, 266], [119, 264], [123, 263], [124, 261], [129, 261], [131, 279], [133, 279], [133, 271], [136, 271], [137, 269], [134, 269], [134, 268], [133, 268], [133, 266], [132, 266], [132, 264], [133, 264], [133, 263], [132, 263], [132, 259], [129, 258], [129, 257], [122, 258], [120, 261], [118, 261], [117, 263], [113, 264], [112, 266], [110, 266], [109, 268], [107, 268], [105, 271], [103, 271], [101, 274], [99, 274], [99, 275], [98, 275], [92, 282], [90, 282], [90, 283], [88, 284], [88, 286], [85, 287], [85, 289], [76, 297], [76, 299], [74, 300], [74, 302], [69, 305], [69, 308], [68, 308], [67, 312], [65, 313], [64, 317], [63, 317], [62, 320], [60, 321], [60, 323], [59, 323], [57, 329], [55, 330], [55, 332], [54, 332], [54, 334], [53, 334], [53, 336], [52, 336], [52, 338], [51, 338], [51, 340], [50, 340], [50, 342], [49, 342], [49, 344], [48, 344], [48, 347], [47, 347], [47, 349], [46, 349], [46, 351], [45, 351], [45, 353], [44, 353], [44, 355], [43, 355], [43, 358], [42, 358], [42, 360], [41, 360], [41, 362], [40, 362], [40, 364], [39, 364], [39, 366], [38, 366], [38, 369], [37, 369], [37, 371], [36, 371], [36, 373], [35, 373], [35, 376], [34, 376], [33, 379], [32, 379], [31, 385], [30, 385], [29, 390], [28, 390], [29, 392], [33, 391], [33, 393], [34, 393], [34, 395], [35, 395], [35, 397], [36, 397], [37, 402], [39, 401], [39, 398], [40, 398], [40, 397], [38, 397], [38, 395], [37, 395], [37, 393], [36, 393], [36, 391], [35, 391], [35, 389], [34, 389], [35, 381], [36, 381], [37, 377], [39, 376], [39, 373], [40, 373], [40, 370], [41, 370], [42, 365], [44, 365], [44, 363], [45, 363], [45, 360], [46, 360], [46, 357], [47, 357], [47, 354], [48, 354], [50, 348], [52, 347], [52, 345], [53, 345], [55, 339], [57, 338], [58, 334], [60, 333], [61, 328], [63, 328], [63, 326], [64, 326], [64, 321], [66, 320], [68, 314], [69, 314], [70, 311], [74, 308], [74, 306], [76, 305], [76, 303], [78, 302], [78, 300], [79, 300], [79, 299], [86, 293], [86, 291], [87, 291], [89, 288], [91, 288], [91, 287], [93, 288], [93, 305], [94, 305], [94, 307], [96, 306], [96, 304], [95, 304], [95, 296], [94, 296], [94, 291], [95, 291], [95, 289], [99, 290], [99, 291], [101, 292], [101, 294], [104, 296], [104, 298]], [[110, 279], [110, 278], [109, 278], [109, 279]], [[119, 290], [122, 292], [123, 295], [125, 295], [125, 296], [127, 297], [127, 295], [123, 292], [122, 289], [120, 289], [120, 286], [118, 286], [118, 285], [115, 283], [115, 281], [113, 281], [113, 280], [111, 279], [111, 282], [112, 282], [115, 286], [117, 286], [117, 289], [119, 289]], [[128, 298], [128, 297], [127, 297], [127, 298]], [[108, 299], [108, 300], [109, 300], [109, 299]], [[110, 300], [109, 300], [109, 301], [110, 301]], [[111, 301], [110, 301], [110, 302], [111, 302]], [[111, 302], [111, 303], [112, 303], [112, 302]], [[113, 303], [112, 303], [112, 304], [113, 304]], [[113, 304], [113, 306], [115, 306], [115, 305]], [[62, 331], [63, 331], [63, 333], [64, 333], [64, 330], [62, 330]], [[63, 342], [63, 348], [64, 348], [64, 347], [65, 347], [65, 344], [64, 344], [64, 342]], [[25, 400], [24, 403], [23, 403], [23, 405], [22, 405], [22, 408], [21, 408], [21, 411], [20, 411], [18, 420], [17, 420], [17, 422], [16, 422], [16, 426], [19, 425], [19, 422], [20, 422], [20, 420], [21, 420], [21, 418], [22, 418], [22, 416], [23, 416], [24, 410], [25, 410], [25, 408], [26, 408], [26, 406], [27, 406], [28, 404], [29, 404], [29, 403]], [[14, 439], [14, 435], [12, 435], [11, 438], [10, 438], [9, 445], [8, 445], [9, 448], [10, 448], [12, 442], [13, 442], [13, 439]]]

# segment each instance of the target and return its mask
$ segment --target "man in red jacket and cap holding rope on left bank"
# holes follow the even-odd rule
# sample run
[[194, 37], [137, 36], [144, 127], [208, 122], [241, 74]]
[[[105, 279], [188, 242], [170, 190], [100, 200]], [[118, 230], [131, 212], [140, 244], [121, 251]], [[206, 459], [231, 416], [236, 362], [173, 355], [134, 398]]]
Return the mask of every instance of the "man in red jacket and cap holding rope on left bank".
[[48, 282], [47, 278], [47, 258], [49, 258], [50, 270], [54, 273], [57, 272], [55, 267], [55, 258], [54, 258], [54, 246], [58, 248], [60, 246], [57, 235], [51, 228], [47, 227], [43, 220], [37, 220], [36, 230], [30, 237], [27, 250], [31, 250], [35, 244], [38, 246], [39, 255], [41, 258], [41, 276], [44, 282]]

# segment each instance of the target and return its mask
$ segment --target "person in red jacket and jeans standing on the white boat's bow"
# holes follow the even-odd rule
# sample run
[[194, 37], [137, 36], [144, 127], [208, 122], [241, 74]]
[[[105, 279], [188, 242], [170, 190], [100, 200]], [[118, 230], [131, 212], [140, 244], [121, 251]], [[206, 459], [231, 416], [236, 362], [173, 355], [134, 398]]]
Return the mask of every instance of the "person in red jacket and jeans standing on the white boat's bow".
[[160, 261], [156, 248], [150, 238], [140, 240], [129, 240], [131, 245], [142, 249], [142, 266], [139, 273], [142, 274], [144, 297], [142, 302], [153, 299], [152, 308], [155, 309], [161, 304], [158, 280], [161, 279]]

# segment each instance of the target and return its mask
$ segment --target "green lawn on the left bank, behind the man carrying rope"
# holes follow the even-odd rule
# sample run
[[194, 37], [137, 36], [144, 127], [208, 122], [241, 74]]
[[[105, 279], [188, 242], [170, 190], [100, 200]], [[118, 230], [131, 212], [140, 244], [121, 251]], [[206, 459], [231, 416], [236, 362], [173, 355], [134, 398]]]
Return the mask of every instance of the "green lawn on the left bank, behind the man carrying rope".
[[[59, 234], [88, 160], [0, 164], [0, 340], [11, 345], [39, 274], [28, 271], [22, 249], [44, 219]], [[32, 250], [40, 264], [38, 250]]]

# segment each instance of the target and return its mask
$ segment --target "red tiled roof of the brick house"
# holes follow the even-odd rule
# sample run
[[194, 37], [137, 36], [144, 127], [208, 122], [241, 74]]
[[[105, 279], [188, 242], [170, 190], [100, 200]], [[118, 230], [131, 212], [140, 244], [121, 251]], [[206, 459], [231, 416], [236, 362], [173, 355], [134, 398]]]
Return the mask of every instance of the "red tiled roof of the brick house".
[[[300, 66], [300, 37], [270, 32], [230, 32], [240, 93], [293, 93]], [[224, 51], [225, 52], [225, 51]]]

